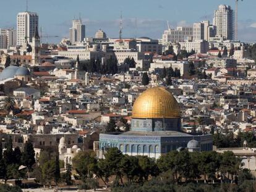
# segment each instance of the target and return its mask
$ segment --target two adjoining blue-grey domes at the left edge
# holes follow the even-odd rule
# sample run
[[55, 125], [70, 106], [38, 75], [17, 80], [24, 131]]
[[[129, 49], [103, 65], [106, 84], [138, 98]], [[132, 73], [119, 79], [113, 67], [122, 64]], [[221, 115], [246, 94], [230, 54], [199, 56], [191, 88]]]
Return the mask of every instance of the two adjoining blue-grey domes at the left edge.
[[6, 67], [6, 69], [4, 69], [2, 73], [0, 73], [0, 80], [14, 78], [15, 75], [27, 76], [30, 75], [30, 72], [25, 67], [17, 67], [15, 65], [10, 65], [9, 67]]

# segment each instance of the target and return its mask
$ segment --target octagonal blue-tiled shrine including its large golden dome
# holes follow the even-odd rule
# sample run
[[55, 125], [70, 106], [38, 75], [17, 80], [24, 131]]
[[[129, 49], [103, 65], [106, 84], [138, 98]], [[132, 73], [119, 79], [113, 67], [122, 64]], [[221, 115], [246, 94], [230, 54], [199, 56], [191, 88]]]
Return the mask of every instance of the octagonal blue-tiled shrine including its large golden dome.
[[130, 131], [100, 134], [97, 155], [102, 158], [108, 148], [118, 148], [130, 156], [157, 159], [166, 152], [189, 148], [191, 140], [197, 141], [198, 151], [212, 151], [210, 134], [182, 132], [179, 104], [173, 94], [156, 86], [144, 91], [134, 102]]

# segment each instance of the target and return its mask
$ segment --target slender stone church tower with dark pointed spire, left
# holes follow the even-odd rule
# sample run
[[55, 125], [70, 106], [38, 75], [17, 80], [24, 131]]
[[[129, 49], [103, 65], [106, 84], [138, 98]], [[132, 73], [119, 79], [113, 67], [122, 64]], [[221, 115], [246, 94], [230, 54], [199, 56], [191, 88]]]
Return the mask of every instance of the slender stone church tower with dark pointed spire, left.
[[40, 36], [38, 33], [38, 28], [35, 28], [35, 35], [32, 38], [32, 64], [39, 65], [40, 64]]

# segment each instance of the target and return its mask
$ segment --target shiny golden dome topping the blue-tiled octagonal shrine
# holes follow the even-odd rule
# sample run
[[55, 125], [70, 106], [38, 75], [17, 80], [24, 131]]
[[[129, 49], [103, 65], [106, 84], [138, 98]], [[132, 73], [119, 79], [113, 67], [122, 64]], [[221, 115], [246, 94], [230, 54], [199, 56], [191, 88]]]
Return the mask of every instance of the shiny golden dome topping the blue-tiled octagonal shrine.
[[132, 118], [173, 118], [180, 117], [180, 114], [181, 109], [173, 94], [157, 86], [144, 91], [132, 109]]

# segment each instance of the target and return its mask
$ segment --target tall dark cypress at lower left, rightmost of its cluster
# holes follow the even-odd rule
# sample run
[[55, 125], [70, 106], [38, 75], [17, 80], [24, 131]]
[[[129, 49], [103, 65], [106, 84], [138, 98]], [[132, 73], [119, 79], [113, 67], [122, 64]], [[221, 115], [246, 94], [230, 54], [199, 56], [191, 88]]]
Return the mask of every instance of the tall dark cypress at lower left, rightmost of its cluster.
[[29, 140], [24, 145], [21, 160], [22, 164], [27, 166], [29, 177], [30, 169], [32, 168], [32, 165], [35, 164], [35, 150], [33, 144]]

